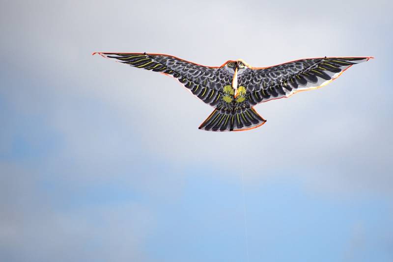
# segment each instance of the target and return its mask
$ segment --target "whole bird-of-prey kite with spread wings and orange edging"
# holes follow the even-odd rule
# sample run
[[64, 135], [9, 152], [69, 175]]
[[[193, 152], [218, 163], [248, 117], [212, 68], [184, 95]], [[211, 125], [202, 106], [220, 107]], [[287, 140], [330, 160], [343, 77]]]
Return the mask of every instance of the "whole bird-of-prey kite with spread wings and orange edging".
[[254, 105], [322, 87], [368, 57], [319, 57], [255, 68], [242, 59], [210, 67], [157, 53], [94, 52], [178, 79], [200, 100], [215, 107], [199, 129], [245, 131], [263, 125]]

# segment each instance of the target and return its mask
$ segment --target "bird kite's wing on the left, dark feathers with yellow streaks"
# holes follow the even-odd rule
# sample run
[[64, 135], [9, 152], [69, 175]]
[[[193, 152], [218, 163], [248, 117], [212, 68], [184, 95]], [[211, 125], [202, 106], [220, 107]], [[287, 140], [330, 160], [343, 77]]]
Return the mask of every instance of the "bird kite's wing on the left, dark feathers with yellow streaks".
[[98, 53], [137, 68], [172, 75], [200, 100], [212, 106], [220, 102], [220, 97], [223, 96], [223, 87], [230, 85], [233, 79], [233, 74], [223, 66], [202, 66], [167, 54]]

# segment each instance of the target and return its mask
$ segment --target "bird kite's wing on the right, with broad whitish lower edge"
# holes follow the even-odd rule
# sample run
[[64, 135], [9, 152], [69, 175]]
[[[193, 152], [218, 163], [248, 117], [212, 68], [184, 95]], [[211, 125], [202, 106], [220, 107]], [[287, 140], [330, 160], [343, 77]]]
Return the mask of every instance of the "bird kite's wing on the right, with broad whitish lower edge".
[[300, 91], [324, 86], [354, 64], [372, 57], [308, 58], [267, 68], [247, 68], [238, 76], [238, 85], [247, 90], [251, 106], [289, 97]]

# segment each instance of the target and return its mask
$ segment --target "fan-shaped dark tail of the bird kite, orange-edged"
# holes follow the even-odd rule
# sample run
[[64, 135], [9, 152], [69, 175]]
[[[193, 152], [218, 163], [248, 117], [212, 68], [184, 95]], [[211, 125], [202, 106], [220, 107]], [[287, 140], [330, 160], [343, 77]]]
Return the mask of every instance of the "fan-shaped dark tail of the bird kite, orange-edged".
[[253, 107], [234, 111], [215, 109], [199, 126], [206, 131], [245, 131], [266, 122]]

